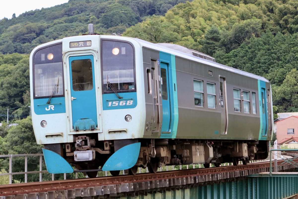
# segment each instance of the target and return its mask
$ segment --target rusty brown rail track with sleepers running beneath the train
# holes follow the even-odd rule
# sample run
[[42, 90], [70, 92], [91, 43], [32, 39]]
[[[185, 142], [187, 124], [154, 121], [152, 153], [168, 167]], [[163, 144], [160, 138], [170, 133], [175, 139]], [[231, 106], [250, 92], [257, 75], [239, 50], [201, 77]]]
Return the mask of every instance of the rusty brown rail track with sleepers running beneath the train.
[[[298, 159], [294, 162], [297, 164]], [[279, 171], [297, 170], [297, 167], [279, 160]], [[297, 164], [298, 165], [298, 164]], [[274, 166], [274, 164], [273, 164]], [[8, 198], [76, 198], [86, 196], [138, 195], [146, 192], [184, 189], [191, 186], [203, 186], [208, 183], [219, 183], [246, 178], [248, 175], [269, 172], [270, 163], [257, 162], [238, 166], [220, 166], [201, 169], [184, 169], [167, 172], [140, 173], [120, 175], [117, 177], [83, 178], [75, 180], [44, 181], [0, 185], [0, 196]], [[37, 197], [38, 195], [38, 197]]]

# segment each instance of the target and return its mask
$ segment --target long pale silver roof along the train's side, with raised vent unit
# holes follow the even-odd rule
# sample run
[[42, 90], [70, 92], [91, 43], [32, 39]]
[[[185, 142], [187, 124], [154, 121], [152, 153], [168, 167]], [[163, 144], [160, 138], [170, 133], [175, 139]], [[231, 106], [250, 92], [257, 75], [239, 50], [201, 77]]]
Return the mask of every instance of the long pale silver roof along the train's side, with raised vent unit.
[[[142, 47], [147, 47], [147, 48], [150, 48], [150, 49], [163, 51], [165, 53], [174, 54], [174, 55], [182, 57], [182, 58], [186, 58], [186, 59], [189, 59], [189, 60], [192, 60], [192, 61], [200, 62], [202, 64], [207, 64], [207, 65], [210, 65], [210, 66], [213, 66], [213, 67], [216, 67], [216, 68], [227, 70], [227, 71], [232, 72], [232, 73], [236, 73], [236, 74], [243, 75], [243, 76], [246, 76], [246, 77], [262, 80], [262, 81], [265, 81], [265, 82], [269, 83], [269, 81], [266, 78], [261, 77], [259, 75], [254, 75], [252, 73], [245, 72], [243, 70], [239, 70], [239, 69], [232, 68], [232, 67], [229, 67], [229, 66], [226, 66], [226, 65], [223, 65], [223, 64], [219, 64], [217, 62], [214, 62], [214, 61], [211, 61], [211, 60], [208, 60], [208, 59], [205, 59], [205, 58], [201, 58], [200, 56], [192, 55], [189, 52], [184, 52], [183, 50], [187, 49], [185, 47], [181, 47], [181, 49], [183, 49], [182, 51], [180, 51], [179, 49], [171, 48], [171, 46], [174, 46], [176, 44], [171, 44], [171, 45], [162, 44], [161, 45], [160, 43], [159, 44], [153, 44], [153, 43], [150, 43], [148, 41], [144, 41], [144, 40], [138, 39], [138, 38], [135, 38], [135, 40], [138, 41], [139, 44]], [[169, 48], [169, 46], [170, 46], [170, 48]], [[179, 46], [179, 45], [176, 45], [176, 46]], [[191, 50], [191, 49], [188, 49], [188, 50]], [[196, 51], [196, 52], [198, 52], [198, 51]], [[204, 53], [201, 53], [201, 54], [206, 55]], [[207, 55], [207, 56], [212, 58], [209, 55]]]

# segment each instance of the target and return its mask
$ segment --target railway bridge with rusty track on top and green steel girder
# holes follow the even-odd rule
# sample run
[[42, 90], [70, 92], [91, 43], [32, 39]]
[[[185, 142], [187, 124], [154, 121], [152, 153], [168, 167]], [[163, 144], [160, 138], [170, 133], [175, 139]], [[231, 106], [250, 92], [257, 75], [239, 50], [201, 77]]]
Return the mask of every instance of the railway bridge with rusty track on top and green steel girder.
[[[42, 154], [38, 155], [42, 157]], [[13, 155], [9, 158], [11, 160]], [[42, 163], [42, 158], [40, 159]], [[0, 185], [0, 199], [298, 198], [297, 165], [298, 159], [290, 158], [238, 166], [182, 169], [156, 174], [138, 173], [134, 176], [59, 181], [40, 179], [41, 182]], [[46, 171], [41, 169], [40, 176], [44, 172]], [[24, 172], [12, 173], [10, 168], [9, 173], [0, 175], [25, 175], [26, 179], [30, 173], [32, 172], [28, 172], [25, 166]]]

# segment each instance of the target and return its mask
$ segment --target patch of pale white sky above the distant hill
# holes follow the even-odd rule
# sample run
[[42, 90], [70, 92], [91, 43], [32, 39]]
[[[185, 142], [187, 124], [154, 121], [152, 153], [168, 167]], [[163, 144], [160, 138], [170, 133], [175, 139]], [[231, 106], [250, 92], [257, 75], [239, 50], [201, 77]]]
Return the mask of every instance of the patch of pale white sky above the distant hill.
[[[3, 2], [2, 2], [3, 1]], [[64, 4], [68, 0], [0, 0], [0, 20], [4, 17], [11, 18], [13, 13], [18, 17], [20, 14], [41, 8], [53, 7], [55, 5]], [[5, 2], [5, 3], [4, 3]]]

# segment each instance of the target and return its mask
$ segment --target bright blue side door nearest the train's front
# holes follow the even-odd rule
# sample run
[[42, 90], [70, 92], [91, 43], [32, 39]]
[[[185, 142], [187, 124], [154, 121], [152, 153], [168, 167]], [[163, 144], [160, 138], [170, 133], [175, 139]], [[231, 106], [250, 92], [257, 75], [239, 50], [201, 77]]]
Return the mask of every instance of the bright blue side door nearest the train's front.
[[168, 65], [160, 63], [160, 76], [162, 88], [162, 132], [169, 132], [171, 111], [170, 111], [170, 96], [169, 96], [169, 75]]

